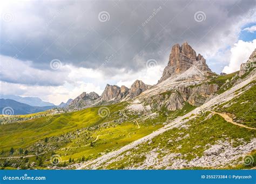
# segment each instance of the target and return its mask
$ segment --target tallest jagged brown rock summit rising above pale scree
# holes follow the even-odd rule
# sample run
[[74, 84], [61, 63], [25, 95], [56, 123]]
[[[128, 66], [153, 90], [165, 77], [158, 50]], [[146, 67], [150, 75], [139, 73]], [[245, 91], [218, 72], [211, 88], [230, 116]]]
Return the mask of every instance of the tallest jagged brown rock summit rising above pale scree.
[[168, 65], [165, 67], [163, 75], [158, 83], [165, 81], [171, 76], [176, 76], [185, 72], [192, 66], [196, 66], [201, 72], [212, 73], [211, 69], [206, 65], [206, 61], [201, 54], [196, 54], [196, 51], [188, 45], [183, 43], [181, 46], [176, 44], [172, 47], [169, 57]]

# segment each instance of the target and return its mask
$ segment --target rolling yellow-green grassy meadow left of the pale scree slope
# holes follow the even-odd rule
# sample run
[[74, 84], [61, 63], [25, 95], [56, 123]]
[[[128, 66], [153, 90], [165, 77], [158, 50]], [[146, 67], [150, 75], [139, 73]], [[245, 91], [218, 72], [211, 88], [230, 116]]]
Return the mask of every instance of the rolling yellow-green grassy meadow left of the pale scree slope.
[[46, 168], [52, 155], [58, 155], [59, 165], [64, 166], [94, 159], [149, 135], [167, 119], [164, 115], [142, 118], [127, 112], [126, 106], [119, 103], [3, 124], [0, 162], [3, 168], [15, 163], [27, 168], [28, 162]]

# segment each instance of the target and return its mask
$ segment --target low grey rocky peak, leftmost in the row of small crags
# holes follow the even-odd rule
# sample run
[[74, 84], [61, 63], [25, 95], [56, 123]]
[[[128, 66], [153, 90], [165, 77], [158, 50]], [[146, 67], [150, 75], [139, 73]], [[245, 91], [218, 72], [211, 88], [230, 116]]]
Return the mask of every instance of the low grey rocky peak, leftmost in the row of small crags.
[[70, 104], [70, 109], [80, 109], [90, 107], [92, 104], [96, 103], [99, 100], [99, 95], [95, 92], [87, 94], [83, 92], [78, 97], [76, 97]]

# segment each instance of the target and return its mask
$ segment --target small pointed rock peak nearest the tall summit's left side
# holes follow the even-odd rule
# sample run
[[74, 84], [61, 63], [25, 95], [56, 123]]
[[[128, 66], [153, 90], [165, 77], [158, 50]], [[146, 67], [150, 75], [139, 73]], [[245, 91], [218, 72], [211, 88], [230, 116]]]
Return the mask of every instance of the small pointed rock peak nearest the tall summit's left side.
[[127, 97], [134, 98], [134, 97], [138, 96], [139, 94], [141, 94], [143, 91], [150, 89], [151, 87], [152, 86], [147, 85], [140, 80], [136, 80], [135, 82], [133, 82]]

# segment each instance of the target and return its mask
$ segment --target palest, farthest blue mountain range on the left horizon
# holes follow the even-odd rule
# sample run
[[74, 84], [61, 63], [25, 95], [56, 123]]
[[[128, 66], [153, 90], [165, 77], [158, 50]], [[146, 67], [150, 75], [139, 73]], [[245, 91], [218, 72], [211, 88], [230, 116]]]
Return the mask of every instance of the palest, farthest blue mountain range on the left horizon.
[[38, 97], [21, 97], [17, 95], [0, 95], [0, 98], [15, 100], [20, 103], [25, 103], [34, 107], [44, 107], [55, 105], [50, 102], [44, 102]]

